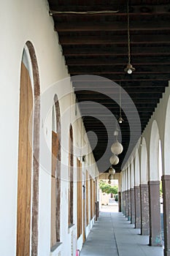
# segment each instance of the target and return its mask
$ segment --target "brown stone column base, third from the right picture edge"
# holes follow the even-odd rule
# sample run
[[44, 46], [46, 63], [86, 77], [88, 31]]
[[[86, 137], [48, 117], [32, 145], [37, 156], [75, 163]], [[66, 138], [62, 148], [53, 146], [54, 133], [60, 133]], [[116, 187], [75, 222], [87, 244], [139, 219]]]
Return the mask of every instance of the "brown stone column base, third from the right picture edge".
[[150, 215], [149, 215], [149, 192], [147, 184], [140, 184], [141, 195], [141, 235], [150, 234]]

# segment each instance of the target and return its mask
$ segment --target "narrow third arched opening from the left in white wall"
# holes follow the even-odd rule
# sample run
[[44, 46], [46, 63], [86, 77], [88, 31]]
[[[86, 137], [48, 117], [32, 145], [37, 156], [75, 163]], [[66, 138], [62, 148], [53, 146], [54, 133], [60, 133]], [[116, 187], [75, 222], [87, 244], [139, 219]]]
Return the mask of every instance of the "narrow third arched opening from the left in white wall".
[[73, 225], [73, 129], [69, 128], [69, 227]]

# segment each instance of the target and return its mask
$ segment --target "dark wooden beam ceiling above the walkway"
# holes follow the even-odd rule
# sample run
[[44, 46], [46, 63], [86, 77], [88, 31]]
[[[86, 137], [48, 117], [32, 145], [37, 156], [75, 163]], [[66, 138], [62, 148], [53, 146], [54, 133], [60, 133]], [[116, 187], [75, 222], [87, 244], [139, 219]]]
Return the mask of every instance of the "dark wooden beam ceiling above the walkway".
[[[125, 93], [138, 110], [143, 131], [170, 80], [169, 0], [131, 0], [129, 4], [131, 64], [136, 69], [131, 75], [124, 72], [128, 63], [125, 0], [49, 0], [54, 29], [58, 31], [91, 146], [96, 144], [89, 132], [93, 131], [98, 136], [93, 154], [101, 171], [106, 167], [103, 162], [108, 162], [109, 167], [111, 156], [109, 150], [102, 159], [110, 147], [108, 134], [113, 134], [115, 129], [109, 120], [112, 116], [118, 118], [120, 111], [115, 102], [120, 94], [113, 82], [121, 83], [125, 90], [121, 94], [124, 121], [120, 125], [124, 150], [119, 156], [120, 163], [115, 166], [116, 171], [120, 171], [130, 152], [128, 146], [134, 147], [138, 135], [138, 123], [135, 121], [131, 135], [131, 120], [135, 113]], [[97, 102], [101, 108], [89, 101]]]

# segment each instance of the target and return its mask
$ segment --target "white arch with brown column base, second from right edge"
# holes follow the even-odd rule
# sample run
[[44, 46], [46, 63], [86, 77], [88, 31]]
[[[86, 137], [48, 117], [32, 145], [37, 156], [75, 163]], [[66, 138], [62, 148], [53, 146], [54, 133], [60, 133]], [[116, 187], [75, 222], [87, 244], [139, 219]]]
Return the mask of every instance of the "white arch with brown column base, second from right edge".
[[149, 205], [150, 205], [150, 245], [162, 246], [161, 208], [160, 208], [160, 171], [161, 140], [158, 124], [154, 120], [150, 133]]

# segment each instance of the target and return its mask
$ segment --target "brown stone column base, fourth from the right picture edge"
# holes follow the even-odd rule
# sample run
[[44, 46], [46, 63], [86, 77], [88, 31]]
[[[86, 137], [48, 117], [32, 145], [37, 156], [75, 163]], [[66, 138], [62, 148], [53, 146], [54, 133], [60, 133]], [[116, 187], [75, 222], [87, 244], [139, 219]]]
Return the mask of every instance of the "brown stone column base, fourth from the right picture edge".
[[134, 186], [134, 202], [135, 202], [135, 228], [141, 228], [141, 204], [140, 204], [139, 186]]

